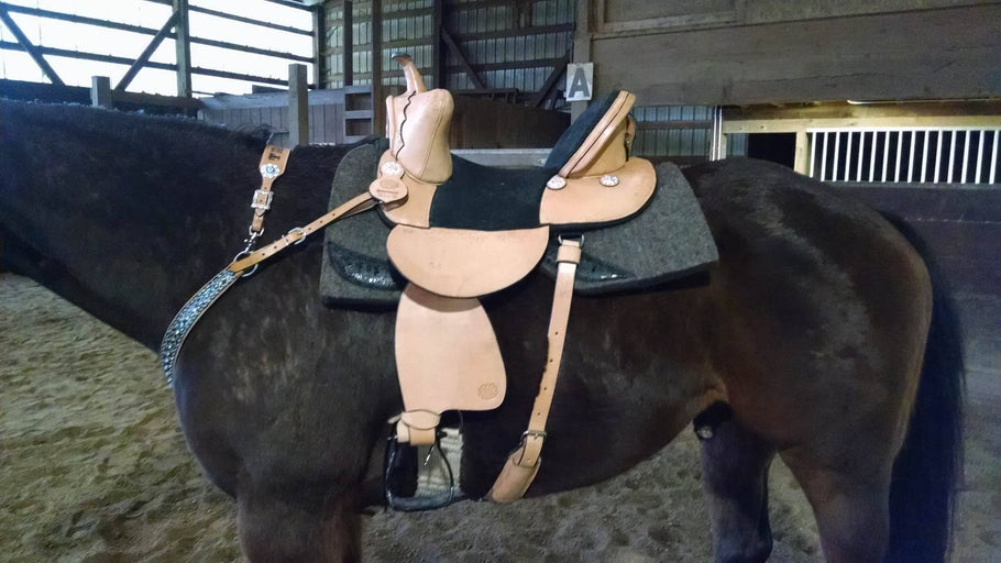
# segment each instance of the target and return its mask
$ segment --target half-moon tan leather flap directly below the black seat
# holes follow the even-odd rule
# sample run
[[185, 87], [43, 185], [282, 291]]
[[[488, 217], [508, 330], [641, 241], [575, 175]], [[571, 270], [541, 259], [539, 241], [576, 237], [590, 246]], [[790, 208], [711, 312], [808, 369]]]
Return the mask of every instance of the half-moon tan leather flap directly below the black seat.
[[549, 227], [512, 231], [397, 225], [386, 250], [408, 280], [448, 297], [479, 297], [521, 279], [542, 258]]

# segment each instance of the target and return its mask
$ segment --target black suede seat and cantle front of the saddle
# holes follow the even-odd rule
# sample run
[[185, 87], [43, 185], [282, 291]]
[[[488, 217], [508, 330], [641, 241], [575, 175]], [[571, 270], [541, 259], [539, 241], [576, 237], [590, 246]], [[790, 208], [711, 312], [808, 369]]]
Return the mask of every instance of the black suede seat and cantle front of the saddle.
[[[546, 183], [568, 161], [598, 125], [619, 96], [613, 91], [587, 108], [557, 141], [542, 167], [496, 168], [452, 155], [452, 175], [435, 191], [429, 216], [430, 227], [505, 231], [540, 225], [539, 209]], [[581, 222], [574, 230], [597, 224]], [[559, 231], [561, 225], [553, 225]], [[568, 227], [569, 229], [569, 227]]]

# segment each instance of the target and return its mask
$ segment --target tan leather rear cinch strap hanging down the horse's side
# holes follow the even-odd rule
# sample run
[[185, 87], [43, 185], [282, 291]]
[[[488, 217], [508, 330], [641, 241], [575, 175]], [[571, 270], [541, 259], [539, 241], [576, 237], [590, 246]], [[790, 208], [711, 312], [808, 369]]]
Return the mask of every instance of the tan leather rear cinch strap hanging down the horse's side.
[[528, 430], [521, 434], [521, 443], [504, 464], [501, 475], [494, 482], [486, 497], [495, 503], [510, 503], [521, 498], [528, 490], [541, 465], [542, 442], [546, 440], [546, 420], [552, 406], [552, 397], [563, 360], [563, 344], [566, 341], [566, 323], [570, 320], [570, 302], [573, 299], [573, 280], [581, 262], [581, 241], [561, 240], [557, 254], [556, 290], [552, 296], [552, 312], [549, 317], [549, 354], [539, 395], [532, 405]]

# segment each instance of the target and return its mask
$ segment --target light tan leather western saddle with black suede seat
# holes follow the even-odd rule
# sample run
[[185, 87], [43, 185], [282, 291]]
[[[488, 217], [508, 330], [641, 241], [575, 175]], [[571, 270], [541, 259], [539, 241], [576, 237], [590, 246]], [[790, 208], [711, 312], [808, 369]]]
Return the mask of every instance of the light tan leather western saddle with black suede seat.
[[[527, 276], [559, 235], [549, 353], [528, 430], [488, 498], [520, 498], [539, 470], [546, 419], [570, 314], [582, 231], [627, 220], [650, 200], [652, 165], [630, 157], [636, 97], [588, 108], [539, 169], [481, 166], [449, 152], [452, 96], [428, 90], [409, 57], [395, 57], [407, 90], [386, 99], [389, 148], [369, 187], [395, 227], [389, 260], [409, 282], [396, 319], [404, 412], [396, 440], [433, 444], [441, 413], [490, 410], [504, 399], [504, 361], [479, 297]], [[573, 234], [571, 234], [573, 233]]]

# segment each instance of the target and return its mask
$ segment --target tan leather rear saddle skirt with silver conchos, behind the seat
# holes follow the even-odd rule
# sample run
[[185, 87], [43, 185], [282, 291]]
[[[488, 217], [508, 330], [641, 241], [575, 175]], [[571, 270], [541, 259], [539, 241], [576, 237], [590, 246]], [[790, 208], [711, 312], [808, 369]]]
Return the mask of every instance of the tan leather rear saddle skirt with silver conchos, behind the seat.
[[562, 189], [542, 194], [539, 222], [544, 224], [605, 223], [639, 212], [653, 196], [657, 174], [644, 158], [629, 158], [612, 173], [618, 185], [602, 185], [601, 176], [571, 178]]

